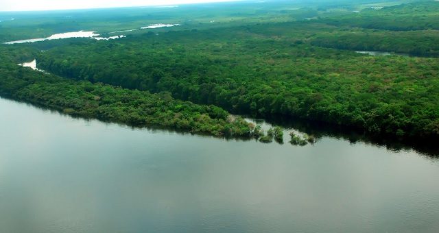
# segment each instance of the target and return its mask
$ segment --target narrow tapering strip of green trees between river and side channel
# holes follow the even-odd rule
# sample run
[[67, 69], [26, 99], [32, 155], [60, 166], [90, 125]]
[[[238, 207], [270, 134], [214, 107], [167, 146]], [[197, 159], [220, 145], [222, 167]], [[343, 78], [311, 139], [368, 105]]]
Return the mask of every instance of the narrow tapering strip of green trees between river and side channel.
[[[23, 51], [22, 54], [29, 53]], [[115, 121], [133, 126], [163, 126], [193, 133], [249, 138], [254, 126], [231, 118], [216, 106], [172, 99], [169, 93], [150, 94], [104, 84], [75, 82], [16, 66], [1, 50], [0, 95], [64, 114]], [[17, 57], [12, 56], [12, 57]], [[260, 132], [258, 132], [259, 134]]]

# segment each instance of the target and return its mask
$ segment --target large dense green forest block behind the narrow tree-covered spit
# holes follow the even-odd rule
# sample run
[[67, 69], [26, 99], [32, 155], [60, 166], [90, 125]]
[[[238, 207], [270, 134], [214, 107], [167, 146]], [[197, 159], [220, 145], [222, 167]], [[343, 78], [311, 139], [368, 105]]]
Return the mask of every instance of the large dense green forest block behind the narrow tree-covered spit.
[[51, 49], [38, 60], [64, 77], [169, 91], [241, 114], [295, 116], [373, 134], [437, 136], [436, 59], [363, 56], [244, 30], [85, 42]]

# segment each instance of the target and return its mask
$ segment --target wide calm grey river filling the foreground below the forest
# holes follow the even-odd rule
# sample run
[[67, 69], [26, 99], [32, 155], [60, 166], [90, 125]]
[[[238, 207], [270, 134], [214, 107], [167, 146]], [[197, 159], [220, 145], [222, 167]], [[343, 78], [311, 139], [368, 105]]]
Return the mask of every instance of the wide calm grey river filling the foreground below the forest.
[[439, 232], [439, 162], [132, 129], [0, 99], [0, 232]]

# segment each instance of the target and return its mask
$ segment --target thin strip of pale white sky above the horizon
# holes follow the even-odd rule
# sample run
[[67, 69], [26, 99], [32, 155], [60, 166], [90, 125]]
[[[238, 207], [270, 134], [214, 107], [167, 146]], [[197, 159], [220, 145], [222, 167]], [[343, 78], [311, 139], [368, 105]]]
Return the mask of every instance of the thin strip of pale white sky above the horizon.
[[0, 11], [66, 10], [123, 6], [179, 5], [233, 0], [0, 0]]

